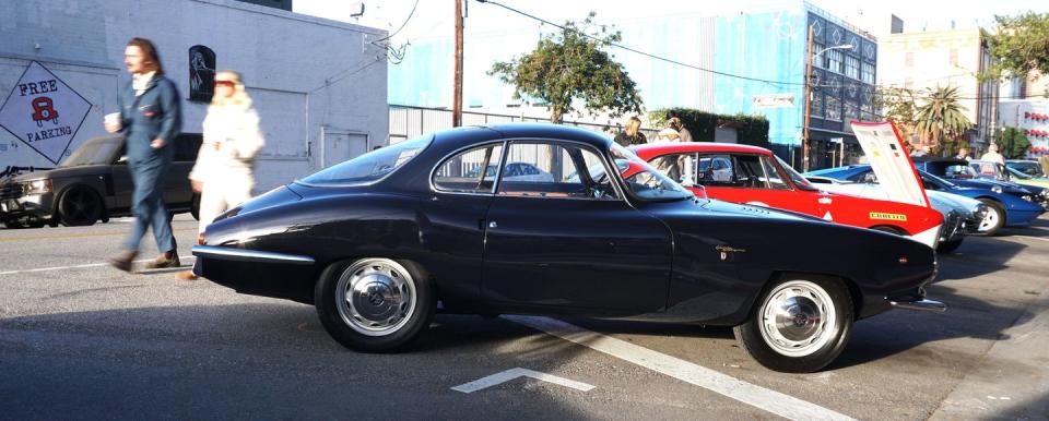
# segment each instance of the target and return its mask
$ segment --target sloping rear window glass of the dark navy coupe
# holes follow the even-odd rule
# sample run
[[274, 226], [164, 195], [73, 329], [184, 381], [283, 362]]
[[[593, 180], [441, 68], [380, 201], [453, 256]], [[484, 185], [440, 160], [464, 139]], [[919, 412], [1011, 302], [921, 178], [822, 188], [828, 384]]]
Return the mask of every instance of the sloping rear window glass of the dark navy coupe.
[[404, 141], [372, 151], [345, 163], [317, 171], [299, 180], [305, 184], [360, 184], [377, 181], [401, 168], [419, 155], [433, 135]]

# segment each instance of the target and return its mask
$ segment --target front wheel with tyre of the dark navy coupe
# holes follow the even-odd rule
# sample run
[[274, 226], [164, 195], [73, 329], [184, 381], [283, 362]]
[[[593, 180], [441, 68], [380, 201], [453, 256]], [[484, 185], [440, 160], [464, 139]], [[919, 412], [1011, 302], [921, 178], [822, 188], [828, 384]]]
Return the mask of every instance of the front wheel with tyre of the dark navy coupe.
[[834, 361], [852, 332], [852, 299], [841, 280], [788, 276], [762, 296], [733, 328], [754, 360], [771, 370], [810, 373]]

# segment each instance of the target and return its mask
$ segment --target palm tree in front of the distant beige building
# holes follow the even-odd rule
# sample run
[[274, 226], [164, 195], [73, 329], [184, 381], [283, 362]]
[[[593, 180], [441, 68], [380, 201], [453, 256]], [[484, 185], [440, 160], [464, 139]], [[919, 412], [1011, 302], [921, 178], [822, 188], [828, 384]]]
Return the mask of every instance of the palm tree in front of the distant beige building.
[[965, 117], [966, 108], [958, 104], [958, 87], [938, 85], [921, 99], [923, 104], [918, 107], [916, 125], [918, 134], [928, 139], [933, 147], [950, 142], [944, 146], [950, 146], [950, 152], [954, 152], [954, 141], [973, 128], [973, 122]]

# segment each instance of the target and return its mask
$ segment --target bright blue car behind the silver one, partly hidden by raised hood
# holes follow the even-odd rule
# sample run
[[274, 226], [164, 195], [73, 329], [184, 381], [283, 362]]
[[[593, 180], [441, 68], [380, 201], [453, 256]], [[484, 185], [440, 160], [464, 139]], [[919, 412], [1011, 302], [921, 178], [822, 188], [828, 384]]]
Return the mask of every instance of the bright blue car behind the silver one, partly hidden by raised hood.
[[[917, 166], [918, 163], [915, 163], [915, 165]], [[965, 167], [969, 168], [967, 165]], [[983, 202], [988, 207], [988, 215], [983, 224], [990, 224], [991, 226], [986, 227], [986, 229], [981, 228], [981, 231], [988, 236], [994, 234], [1002, 227], [1026, 227], [1032, 219], [1046, 212], [1041, 205], [1034, 202], [1034, 195], [1024, 189], [1014, 193], [1012, 188], [1006, 189], [995, 184], [963, 187], [954, 183], [954, 180], [948, 181], [921, 169], [918, 170], [918, 175], [921, 176], [921, 183], [927, 190], [959, 194]], [[804, 176], [826, 177], [858, 183], [877, 182], [877, 178], [869, 165], [821, 169], [805, 172]]]

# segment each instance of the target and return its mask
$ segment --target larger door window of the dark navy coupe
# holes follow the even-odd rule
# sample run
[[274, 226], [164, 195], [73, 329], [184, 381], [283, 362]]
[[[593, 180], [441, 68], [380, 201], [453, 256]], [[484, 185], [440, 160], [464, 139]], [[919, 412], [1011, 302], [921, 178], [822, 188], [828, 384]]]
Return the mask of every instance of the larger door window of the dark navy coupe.
[[[510, 167], [520, 168], [517, 172]], [[616, 200], [601, 157], [590, 148], [553, 142], [514, 142], [496, 194], [503, 196]]]

